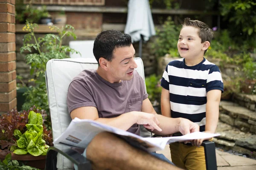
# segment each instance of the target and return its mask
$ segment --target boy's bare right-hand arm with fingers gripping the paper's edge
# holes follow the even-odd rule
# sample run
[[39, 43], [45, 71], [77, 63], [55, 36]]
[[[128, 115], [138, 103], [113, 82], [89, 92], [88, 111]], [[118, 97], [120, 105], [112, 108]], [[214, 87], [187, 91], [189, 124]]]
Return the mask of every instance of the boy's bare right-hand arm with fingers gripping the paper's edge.
[[[221, 101], [221, 91], [211, 90], [207, 92], [207, 103], [206, 103], [206, 124], [205, 132], [215, 133], [218, 124], [219, 117], [219, 104]], [[197, 139], [192, 142], [196, 146], [200, 146], [202, 142], [207, 139]]]

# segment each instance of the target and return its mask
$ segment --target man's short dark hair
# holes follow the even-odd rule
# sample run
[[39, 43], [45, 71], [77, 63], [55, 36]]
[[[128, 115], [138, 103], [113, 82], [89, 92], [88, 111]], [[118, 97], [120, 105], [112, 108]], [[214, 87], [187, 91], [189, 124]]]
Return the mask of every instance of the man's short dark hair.
[[94, 41], [93, 54], [99, 64], [99, 58], [112, 60], [114, 49], [131, 45], [131, 36], [116, 30], [99, 33]]

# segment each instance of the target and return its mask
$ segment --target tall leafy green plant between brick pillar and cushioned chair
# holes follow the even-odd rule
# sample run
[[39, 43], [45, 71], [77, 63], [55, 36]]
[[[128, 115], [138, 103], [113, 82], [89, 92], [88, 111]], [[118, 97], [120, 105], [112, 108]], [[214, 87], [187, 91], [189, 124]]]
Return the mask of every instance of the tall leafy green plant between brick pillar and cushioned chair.
[[[68, 52], [76, 52], [68, 46], [62, 45], [62, 40], [66, 36], [72, 36], [76, 39], [74, 28], [66, 25], [62, 28], [50, 26], [51, 30], [56, 30], [58, 34], [46, 34], [44, 37], [36, 37], [34, 29], [37, 24], [26, 23], [23, 30], [29, 31], [24, 36], [23, 47], [20, 52], [29, 51], [30, 53], [25, 56], [26, 63], [31, 66], [30, 73], [35, 73], [35, 86], [28, 87], [28, 91], [24, 94], [26, 102], [23, 109], [27, 110], [31, 103], [39, 108], [44, 108], [49, 113], [47, 89], [45, 84], [46, 63], [50, 59], [63, 59], [69, 58]], [[33, 42], [32, 42], [33, 41]], [[50, 122], [50, 121], [49, 121]]]

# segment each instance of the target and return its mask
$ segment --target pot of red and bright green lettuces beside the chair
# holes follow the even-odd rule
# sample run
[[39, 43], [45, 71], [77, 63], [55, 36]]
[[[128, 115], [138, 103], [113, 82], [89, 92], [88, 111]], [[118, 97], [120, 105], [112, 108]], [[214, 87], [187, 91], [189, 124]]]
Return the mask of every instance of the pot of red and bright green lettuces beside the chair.
[[12, 160], [26, 161], [28, 165], [44, 168], [47, 149], [52, 146], [51, 131], [43, 123], [46, 116], [44, 110], [35, 106], [28, 111], [11, 110], [2, 114], [0, 159], [5, 159], [11, 153]]

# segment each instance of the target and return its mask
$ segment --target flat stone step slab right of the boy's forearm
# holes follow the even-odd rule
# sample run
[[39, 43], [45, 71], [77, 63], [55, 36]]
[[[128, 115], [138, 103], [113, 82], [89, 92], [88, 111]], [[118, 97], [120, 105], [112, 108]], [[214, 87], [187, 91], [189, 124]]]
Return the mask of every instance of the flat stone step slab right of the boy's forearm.
[[256, 121], [256, 113], [254, 111], [250, 111], [247, 108], [238, 106], [233, 102], [221, 101], [220, 107], [234, 118], [245, 120], [251, 119]]

